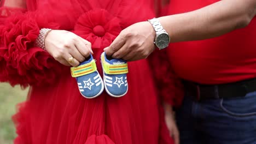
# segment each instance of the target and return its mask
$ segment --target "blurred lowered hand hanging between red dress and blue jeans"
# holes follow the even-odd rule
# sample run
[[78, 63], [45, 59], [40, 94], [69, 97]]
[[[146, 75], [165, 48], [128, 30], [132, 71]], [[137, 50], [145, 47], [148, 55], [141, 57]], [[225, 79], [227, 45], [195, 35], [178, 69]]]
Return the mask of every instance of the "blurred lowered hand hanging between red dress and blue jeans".
[[165, 110], [165, 123], [169, 130], [170, 136], [173, 137], [174, 143], [179, 144], [179, 131], [175, 122], [174, 112], [172, 110], [172, 106], [168, 104], [164, 104]]

